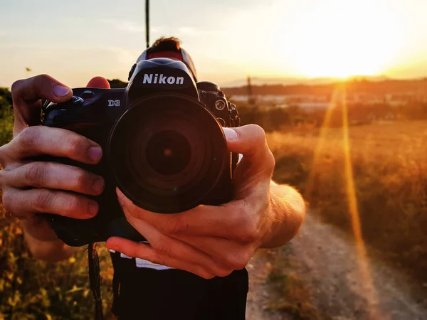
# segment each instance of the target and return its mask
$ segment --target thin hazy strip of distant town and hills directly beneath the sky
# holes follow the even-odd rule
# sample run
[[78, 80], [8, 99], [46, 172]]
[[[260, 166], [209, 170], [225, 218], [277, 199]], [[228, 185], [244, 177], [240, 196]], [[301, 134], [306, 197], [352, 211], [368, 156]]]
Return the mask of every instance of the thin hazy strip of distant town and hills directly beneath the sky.
[[248, 85], [223, 87], [226, 96], [233, 101], [255, 103], [260, 107], [299, 107], [327, 109], [342, 103], [343, 92], [337, 87], [345, 85], [347, 105], [379, 105], [392, 107], [411, 102], [427, 102], [427, 78], [421, 80], [354, 79], [349, 82], [333, 82], [322, 85]]

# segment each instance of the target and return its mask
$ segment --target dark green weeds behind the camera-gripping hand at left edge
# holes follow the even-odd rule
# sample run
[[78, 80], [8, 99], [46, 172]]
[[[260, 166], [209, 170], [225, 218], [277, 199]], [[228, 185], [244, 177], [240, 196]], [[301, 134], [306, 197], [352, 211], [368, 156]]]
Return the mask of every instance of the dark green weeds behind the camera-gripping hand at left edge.
[[[13, 129], [11, 93], [0, 88], [0, 143], [10, 141]], [[0, 320], [93, 319], [88, 258], [78, 248], [68, 261], [34, 260], [26, 249], [19, 223], [0, 204]], [[100, 255], [102, 298], [107, 319], [111, 317], [112, 265], [104, 245]]]

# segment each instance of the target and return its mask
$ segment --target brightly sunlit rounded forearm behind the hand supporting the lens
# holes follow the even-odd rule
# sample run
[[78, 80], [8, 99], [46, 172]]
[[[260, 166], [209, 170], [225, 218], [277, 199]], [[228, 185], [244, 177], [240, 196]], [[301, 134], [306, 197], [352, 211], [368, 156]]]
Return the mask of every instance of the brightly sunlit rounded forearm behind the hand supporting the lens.
[[270, 233], [260, 247], [279, 247], [290, 241], [300, 230], [305, 218], [305, 202], [294, 188], [270, 183], [270, 204], [267, 213]]

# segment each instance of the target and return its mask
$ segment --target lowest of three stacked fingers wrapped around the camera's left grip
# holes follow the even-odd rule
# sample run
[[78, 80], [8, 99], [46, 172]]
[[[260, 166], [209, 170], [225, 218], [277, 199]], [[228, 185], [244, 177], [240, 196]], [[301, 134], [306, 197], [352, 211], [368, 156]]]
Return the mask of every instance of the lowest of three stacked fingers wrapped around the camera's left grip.
[[93, 218], [98, 210], [96, 201], [85, 196], [45, 188], [7, 188], [3, 194], [3, 206], [18, 218], [28, 218], [34, 213], [53, 213], [75, 219], [88, 219]]

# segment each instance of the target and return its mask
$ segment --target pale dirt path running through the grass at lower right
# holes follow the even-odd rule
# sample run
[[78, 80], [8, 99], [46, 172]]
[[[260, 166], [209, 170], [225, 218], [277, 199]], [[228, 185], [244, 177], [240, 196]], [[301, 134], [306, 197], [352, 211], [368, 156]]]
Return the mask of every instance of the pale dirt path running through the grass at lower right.
[[[273, 256], [271, 263], [286, 260], [285, 272], [297, 274], [310, 289], [310, 304], [322, 319], [427, 319], [426, 284], [413, 284], [373, 255], [363, 272], [352, 239], [315, 216], [308, 215], [300, 234]], [[277, 298], [265, 283], [268, 263], [261, 252], [248, 265], [248, 320], [292, 319], [263, 310]]]

